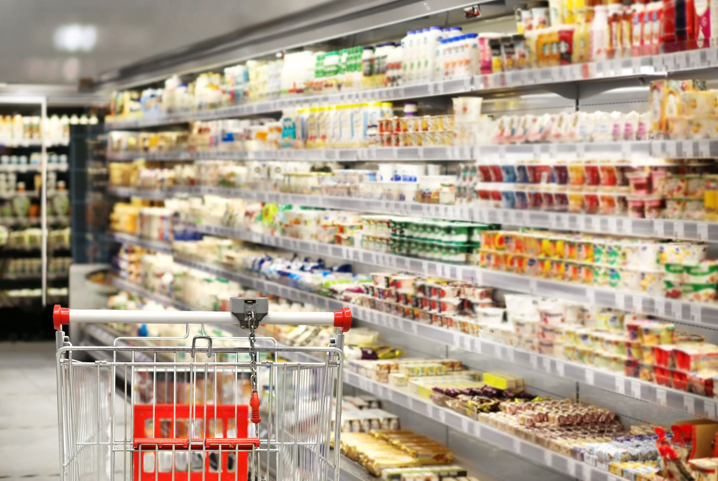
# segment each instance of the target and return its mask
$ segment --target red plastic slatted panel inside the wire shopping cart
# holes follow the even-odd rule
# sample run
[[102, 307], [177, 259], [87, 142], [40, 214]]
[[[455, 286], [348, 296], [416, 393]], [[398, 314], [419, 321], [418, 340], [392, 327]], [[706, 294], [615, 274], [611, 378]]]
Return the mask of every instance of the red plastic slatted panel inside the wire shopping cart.
[[[204, 424], [205, 407], [207, 426]], [[136, 404], [134, 406], [133, 454], [135, 481], [247, 479], [246, 447], [203, 451], [205, 439], [229, 438], [228, 442], [247, 437], [248, 406], [195, 406], [190, 429], [187, 404]], [[189, 439], [192, 445], [187, 449]], [[182, 442], [184, 441], [184, 442]], [[215, 443], [213, 443], [215, 444]], [[253, 440], [251, 444], [254, 444]], [[157, 446], [157, 448], [155, 447]], [[173, 449], [174, 447], [174, 449]], [[183, 449], [184, 448], [184, 449]], [[220, 476], [221, 471], [221, 476]], [[204, 475], [204, 477], [202, 477]]]

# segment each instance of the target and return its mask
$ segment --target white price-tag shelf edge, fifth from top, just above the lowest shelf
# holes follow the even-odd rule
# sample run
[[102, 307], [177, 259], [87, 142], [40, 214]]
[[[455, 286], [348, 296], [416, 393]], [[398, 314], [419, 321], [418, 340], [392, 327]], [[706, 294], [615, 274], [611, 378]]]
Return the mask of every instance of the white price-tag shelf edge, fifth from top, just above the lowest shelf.
[[[265, 294], [277, 295], [285, 299], [293, 300], [294, 302], [309, 303], [317, 306], [317, 308], [321, 310], [340, 310], [347, 306], [347, 303], [342, 303], [340, 300], [287, 287], [278, 282], [261, 280], [257, 277], [244, 275], [207, 262], [197, 262], [180, 257], [174, 257], [174, 261], [191, 267], [192, 269], [207, 272], [216, 277], [233, 280], [242, 285], [253, 287]], [[175, 307], [177, 306], [175, 305]], [[563, 361], [550, 356], [542, 356], [540, 354], [523, 351], [522, 349], [513, 348], [512, 346], [458, 333], [454, 330], [438, 328], [414, 320], [404, 319], [396, 315], [382, 313], [378, 310], [362, 308], [357, 305], [351, 305], [351, 309], [355, 318], [378, 325], [382, 328], [391, 328], [401, 333], [409, 333], [424, 338], [425, 340], [431, 340], [452, 348], [461, 349], [462, 351], [501, 359], [516, 364], [517, 366], [531, 368], [534, 371], [549, 373], [554, 376], [560, 376], [561, 378], [572, 379], [640, 401], [665, 406], [678, 411], [689, 412], [694, 416], [718, 419], [718, 402], [705, 396], [698, 396], [677, 389], [658, 386], [658, 384], [640, 381], [640, 379], [622, 376], [610, 371], [602, 371], [579, 363]]]

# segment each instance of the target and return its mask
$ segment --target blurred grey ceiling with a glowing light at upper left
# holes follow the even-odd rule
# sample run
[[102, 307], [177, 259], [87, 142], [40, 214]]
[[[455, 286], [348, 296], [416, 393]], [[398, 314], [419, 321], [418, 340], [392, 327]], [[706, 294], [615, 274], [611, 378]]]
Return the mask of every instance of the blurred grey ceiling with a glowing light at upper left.
[[2, 0], [0, 82], [76, 84], [331, 1]]

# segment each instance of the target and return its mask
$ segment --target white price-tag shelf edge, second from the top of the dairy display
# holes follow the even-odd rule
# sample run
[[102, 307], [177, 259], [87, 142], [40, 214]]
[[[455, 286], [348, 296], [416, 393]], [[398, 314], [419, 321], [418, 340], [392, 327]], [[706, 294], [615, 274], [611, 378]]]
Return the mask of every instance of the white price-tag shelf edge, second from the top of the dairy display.
[[[295, 161], [467, 161], [514, 162], [537, 159], [539, 161], [572, 161], [577, 159], [640, 159], [645, 165], [648, 158], [715, 158], [718, 141], [618, 141], [575, 143], [520, 143], [490, 146], [436, 146], [436, 147], [368, 147], [368, 148], [314, 148], [276, 149], [269, 151], [168, 151], [155, 153], [108, 153], [110, 161], [192, 160], [295, 160]], [[661, 164], [663, 165], [663, 164]]]

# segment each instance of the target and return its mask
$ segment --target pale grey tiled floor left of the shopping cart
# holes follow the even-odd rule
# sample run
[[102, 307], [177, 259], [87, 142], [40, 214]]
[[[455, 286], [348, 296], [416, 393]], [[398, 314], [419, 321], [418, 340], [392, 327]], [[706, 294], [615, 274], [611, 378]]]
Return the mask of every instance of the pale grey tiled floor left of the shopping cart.
[[0, 480], [59, 480], [55, 343], [0, 343]]

